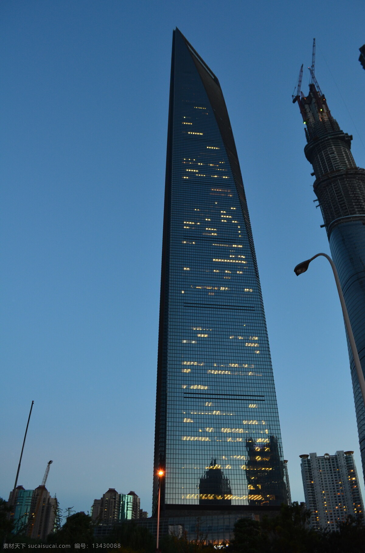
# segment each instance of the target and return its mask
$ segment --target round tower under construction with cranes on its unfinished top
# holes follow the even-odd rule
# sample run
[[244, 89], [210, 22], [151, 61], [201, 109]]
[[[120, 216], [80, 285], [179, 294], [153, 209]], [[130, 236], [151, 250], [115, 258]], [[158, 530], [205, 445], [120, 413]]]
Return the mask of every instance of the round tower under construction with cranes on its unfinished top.
[[[312, 58], [309, 92], [298, 88], [298, 102], [306, 126], [304, 153], [315, 176], [313, 189], [324, 219], [333, 262], [345, 297], [348, 316], [365, 369], [365, 170], [357, 167], [351, 154], [352, 136], [344, 133], [331, 115], [325, 95], [314, 75]], [[362, 467], [365, 474], [365, 409], [356, 368], [348, 341], [352, 386], [356, 409]]]

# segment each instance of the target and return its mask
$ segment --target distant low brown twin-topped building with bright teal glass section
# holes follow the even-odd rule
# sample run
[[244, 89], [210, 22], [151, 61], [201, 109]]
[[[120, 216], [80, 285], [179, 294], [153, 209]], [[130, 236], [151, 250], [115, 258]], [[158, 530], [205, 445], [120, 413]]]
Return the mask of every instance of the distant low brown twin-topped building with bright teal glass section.
[[100, 523], [115, 523], [146, 517], [140, 509], [140, 499], [134, 492], [118, 493], [109, 488], [101, 499], [95, 499], [91, 507], [92, 520]]

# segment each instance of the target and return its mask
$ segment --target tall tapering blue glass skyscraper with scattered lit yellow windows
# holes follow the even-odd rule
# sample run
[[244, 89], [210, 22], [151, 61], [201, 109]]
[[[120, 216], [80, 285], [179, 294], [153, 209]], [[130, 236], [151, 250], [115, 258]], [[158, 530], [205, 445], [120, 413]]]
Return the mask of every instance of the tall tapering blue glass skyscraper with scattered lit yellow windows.
[[173, 36], [154, 513], [287, 501], [251, 225], [217, 77]]

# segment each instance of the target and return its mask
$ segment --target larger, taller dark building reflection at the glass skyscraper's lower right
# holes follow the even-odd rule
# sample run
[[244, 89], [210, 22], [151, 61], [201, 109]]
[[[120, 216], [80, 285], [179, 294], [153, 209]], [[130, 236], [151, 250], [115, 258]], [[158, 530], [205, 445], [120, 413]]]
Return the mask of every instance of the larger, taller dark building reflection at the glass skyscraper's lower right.
[[250, 505], [280, 505], [288, 503], [284, 484], [285, 467], [280, 462], [281, 452], [275, 436], [269, 436], [264, 444], [254, 438], [246, 440], [246, 478]]

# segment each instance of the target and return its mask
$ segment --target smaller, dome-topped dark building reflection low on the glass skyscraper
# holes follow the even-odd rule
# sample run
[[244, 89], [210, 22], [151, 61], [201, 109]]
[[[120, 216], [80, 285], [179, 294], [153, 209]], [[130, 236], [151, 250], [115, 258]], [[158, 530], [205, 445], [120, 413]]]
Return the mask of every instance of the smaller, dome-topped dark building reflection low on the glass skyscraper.
[[200, 478], [200, 505], [231, 505], [232, 490], [230, 481], [223, 474], [221, 465], [212, 459], [205, 473]]

